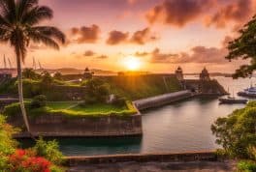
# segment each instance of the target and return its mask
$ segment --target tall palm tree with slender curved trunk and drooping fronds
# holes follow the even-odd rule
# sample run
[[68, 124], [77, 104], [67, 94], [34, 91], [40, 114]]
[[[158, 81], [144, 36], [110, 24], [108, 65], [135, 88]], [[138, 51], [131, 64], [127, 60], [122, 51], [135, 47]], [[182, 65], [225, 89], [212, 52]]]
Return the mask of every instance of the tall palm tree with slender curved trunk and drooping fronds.
[[29, 133], [29, 123], [22, 93], [22, 69], [30, 42], [44, 43], [59, 49], [65, 43], [65, 35], [55, 27], [40, 26], [44, 19], [52, 18], [52, 11], [39, 6], [38, 0], [0, 0], [0, 42], [10, 43], [16, 53], [18, 97], [22, 117]]

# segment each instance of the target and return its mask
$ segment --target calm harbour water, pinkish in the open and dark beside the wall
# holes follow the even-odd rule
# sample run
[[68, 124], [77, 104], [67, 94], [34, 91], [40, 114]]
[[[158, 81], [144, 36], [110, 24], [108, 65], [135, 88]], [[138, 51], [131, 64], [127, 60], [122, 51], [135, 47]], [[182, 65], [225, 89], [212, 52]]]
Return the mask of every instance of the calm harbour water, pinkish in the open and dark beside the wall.
[[[191, 76], [190, 76], [191, 77]], [[216, 79], [231, 93], [256, 83], [256, 78]], [[144, 136], [129, 138], [66, 138], [58, 139], [67, 156], [129, 153], [161, 153], [213, 150], [217, 148], [210, 125], [242, 104], [219, 104], [217, 99], [192, 99], [143, 112]], [[26, 141], [26, 144], [31, 144]]]

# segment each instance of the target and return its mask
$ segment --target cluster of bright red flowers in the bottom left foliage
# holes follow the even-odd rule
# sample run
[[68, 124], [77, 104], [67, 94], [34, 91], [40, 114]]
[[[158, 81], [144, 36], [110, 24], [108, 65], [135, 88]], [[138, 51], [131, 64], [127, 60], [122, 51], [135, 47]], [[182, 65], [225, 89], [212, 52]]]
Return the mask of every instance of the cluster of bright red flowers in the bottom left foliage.
[[16, 150], [9, 158], [12, 172], [50, 172], [51, 163], [46, 158], [33, 157], [33, 152]]

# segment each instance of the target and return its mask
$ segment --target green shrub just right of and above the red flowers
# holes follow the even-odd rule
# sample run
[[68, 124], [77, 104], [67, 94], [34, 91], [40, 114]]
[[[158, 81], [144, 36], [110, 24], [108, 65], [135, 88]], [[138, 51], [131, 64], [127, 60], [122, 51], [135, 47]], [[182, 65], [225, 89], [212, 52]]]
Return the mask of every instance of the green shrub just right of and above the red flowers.
[[58, 143], [55, 140], [47, 142], [41, 137], [37, 140], [33, 149], [38, 156], [47, 158], [56, 165], [60, 165], [63, 162], [63, 155], [59, 151]]

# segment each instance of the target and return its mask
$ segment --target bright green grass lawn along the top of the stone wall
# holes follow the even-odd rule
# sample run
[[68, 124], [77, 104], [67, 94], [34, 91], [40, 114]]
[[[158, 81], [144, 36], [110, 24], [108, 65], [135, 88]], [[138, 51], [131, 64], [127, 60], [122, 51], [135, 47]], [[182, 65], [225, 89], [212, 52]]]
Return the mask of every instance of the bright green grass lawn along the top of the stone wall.
[[[127, 116], [137, 113], [133, 104], [130, 101], [126, 102], [123, 107], [117, 107], [112, 104], [92, 104], [81, 106], [80, 101], [48, 101], [46, 107], [31, 109], [29, 101], [26, 102], [27, 113], [32, 116], [45, 114], [63, 114], [67, 116]], [[6, 106], [5, 115], [16, 115], [20, 109], [18, 103]]]

